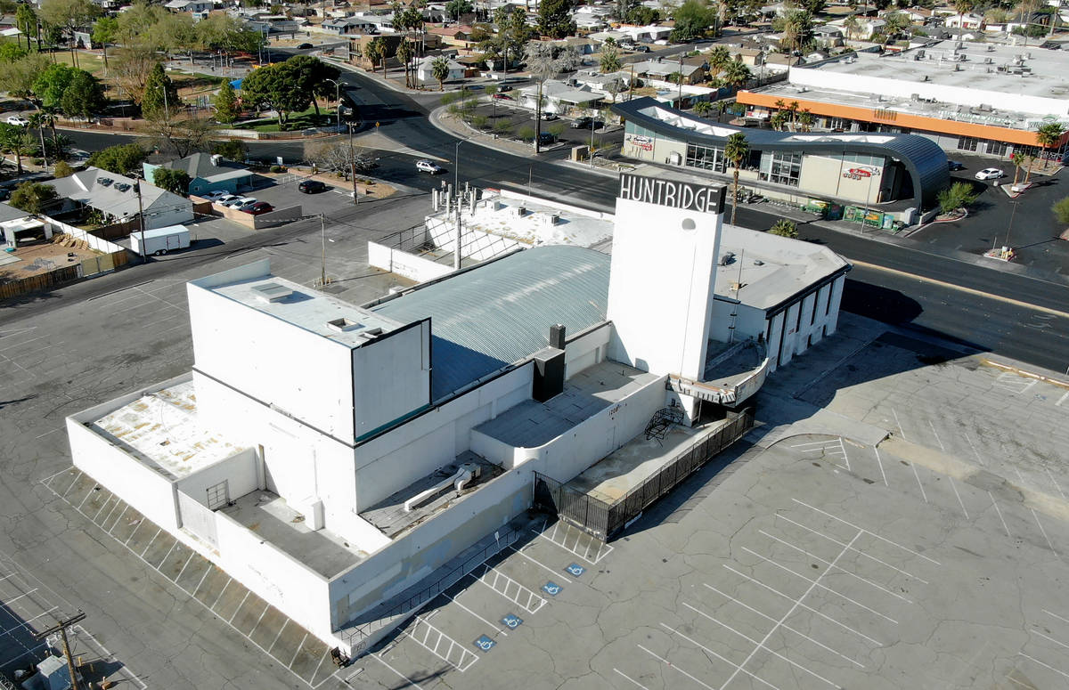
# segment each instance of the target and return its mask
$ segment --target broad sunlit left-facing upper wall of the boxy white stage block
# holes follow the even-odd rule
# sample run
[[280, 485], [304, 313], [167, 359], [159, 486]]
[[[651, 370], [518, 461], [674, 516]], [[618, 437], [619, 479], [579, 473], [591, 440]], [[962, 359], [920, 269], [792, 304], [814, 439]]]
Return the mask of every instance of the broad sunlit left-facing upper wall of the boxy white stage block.
[[[326, 434], [353, 440], [347, 346], [195, 284], [187, 289], [198, 370]], [[230, 417], [224, 408], [219, 411]]]

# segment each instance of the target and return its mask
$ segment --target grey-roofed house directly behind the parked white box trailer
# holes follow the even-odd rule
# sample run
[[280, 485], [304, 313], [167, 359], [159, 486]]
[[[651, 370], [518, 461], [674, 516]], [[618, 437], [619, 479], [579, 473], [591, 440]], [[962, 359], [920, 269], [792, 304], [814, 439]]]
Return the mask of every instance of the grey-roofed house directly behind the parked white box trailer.
[[193, 220], [193, 204], [188, 199], [142, 181], [139, 204], [138, 181], [99, 168], [87, 168], [45, 184], [50, 185], [59, 195], [61, 211], [89, 206], [106, 218], [121, 221], [137, 218], [140, 209], [145, 230]]

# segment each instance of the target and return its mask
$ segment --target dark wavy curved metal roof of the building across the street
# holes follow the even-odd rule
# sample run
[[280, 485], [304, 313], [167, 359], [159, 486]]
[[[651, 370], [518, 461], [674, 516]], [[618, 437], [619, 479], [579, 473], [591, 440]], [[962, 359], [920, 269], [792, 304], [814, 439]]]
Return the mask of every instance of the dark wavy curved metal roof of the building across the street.
[[746, 135], [750, 147], [760, 151], [890, 156], [905, 166], [913, 182], [914, 199], [928, 208], [935, 203], [935, 194], [950, 183], [946, 153], [934, 141], [919, 135], [803, 134], [734, 127], [702, 120], [648, 96], [616, 104], [613, 112], [645, 129], [687, 143], [723, 145], [728, 137], [741, 131]]

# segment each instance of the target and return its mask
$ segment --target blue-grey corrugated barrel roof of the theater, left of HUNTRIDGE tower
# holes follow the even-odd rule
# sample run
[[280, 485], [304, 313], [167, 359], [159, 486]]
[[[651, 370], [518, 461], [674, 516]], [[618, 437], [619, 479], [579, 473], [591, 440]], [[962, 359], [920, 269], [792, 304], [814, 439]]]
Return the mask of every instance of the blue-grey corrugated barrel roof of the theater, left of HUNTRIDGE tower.
[[536, 247], [454, 273], [372, 311], [431, 318], [431, 397], [441, 397], [549, 345], [549, 327], [577, 333], [605, 320], [609, 257]]

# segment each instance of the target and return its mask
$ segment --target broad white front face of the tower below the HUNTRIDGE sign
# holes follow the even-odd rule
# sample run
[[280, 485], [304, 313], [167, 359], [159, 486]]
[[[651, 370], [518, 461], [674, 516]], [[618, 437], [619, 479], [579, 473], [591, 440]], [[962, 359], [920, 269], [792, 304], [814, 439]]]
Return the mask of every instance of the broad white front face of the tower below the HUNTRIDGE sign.
[[[683, 230], [685, 219], [697, 228]], [[719, 244], [719, 214], [617, 199], [608, 287], [611, 359], [654, 374], [701, 378]]]

